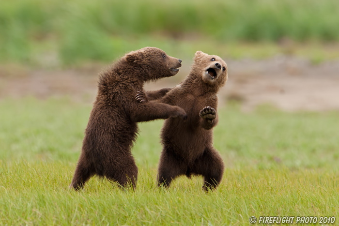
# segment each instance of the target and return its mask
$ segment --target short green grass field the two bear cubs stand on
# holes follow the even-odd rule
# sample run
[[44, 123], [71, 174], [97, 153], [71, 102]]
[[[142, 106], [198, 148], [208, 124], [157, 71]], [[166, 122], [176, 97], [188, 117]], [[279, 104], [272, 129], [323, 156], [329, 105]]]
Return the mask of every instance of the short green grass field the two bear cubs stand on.
[[70, 191], [90, 110], [67, 98], [0, 100], [0, 225], [249, 225], [250, 216], [339, 216], [338, 112], [219, 109], [214, 143], [226, 169], [209, 194], [200, 177], [181, 177], [168, 191], [156, 187], [162, 121], [140, 123], [135, 192], [99, 178]]

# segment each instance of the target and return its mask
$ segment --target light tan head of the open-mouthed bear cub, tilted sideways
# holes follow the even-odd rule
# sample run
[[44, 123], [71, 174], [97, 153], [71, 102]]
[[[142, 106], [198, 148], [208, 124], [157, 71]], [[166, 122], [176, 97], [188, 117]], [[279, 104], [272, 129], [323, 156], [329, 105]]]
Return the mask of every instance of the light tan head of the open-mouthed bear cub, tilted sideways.
[[227, 81], [227, 64], [216, 55], [197, 51], [192, 69], [208, 85], [222, 87]]

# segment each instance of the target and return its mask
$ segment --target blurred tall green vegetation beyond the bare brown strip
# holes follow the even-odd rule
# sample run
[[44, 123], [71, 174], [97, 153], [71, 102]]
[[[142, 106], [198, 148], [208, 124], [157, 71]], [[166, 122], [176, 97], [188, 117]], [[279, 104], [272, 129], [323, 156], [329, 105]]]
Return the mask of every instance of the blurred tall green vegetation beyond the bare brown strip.
[[3, 1], [0, 60], [38, 63], [56, 54], [66, 65], [110, 61], [145, 45], [180, 49], [183, 40], [200, 50], [191, 44], [197, 38], [201, 45], [216, 43], [216, 50], [282, 38], [333, 42], [339, 41], [338, 10], [337, 0]]

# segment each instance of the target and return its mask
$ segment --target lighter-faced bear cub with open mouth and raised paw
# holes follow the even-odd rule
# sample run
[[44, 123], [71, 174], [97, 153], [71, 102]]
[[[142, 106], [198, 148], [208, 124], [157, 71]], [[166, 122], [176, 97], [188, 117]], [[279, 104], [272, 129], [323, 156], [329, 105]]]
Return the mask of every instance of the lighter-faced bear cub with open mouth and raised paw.
[[[227, 65], [218, 56], [196, 52], [190, 74], [159, 100], [178, 105], [187, 120], [170, 118], [161, 131], [163, 151], [158, 168], [158, 185], [170, 186], [179, 175], [202, 175], [204, 190], [216, 188], [224, 171], [220, 154], [213, 147], [213, 130], [218, 122], [217, 92], [227, 80]], [[149, 98], [146, 92], [145, 101]], [[151, 99], [154, 99], [151, 97]]]

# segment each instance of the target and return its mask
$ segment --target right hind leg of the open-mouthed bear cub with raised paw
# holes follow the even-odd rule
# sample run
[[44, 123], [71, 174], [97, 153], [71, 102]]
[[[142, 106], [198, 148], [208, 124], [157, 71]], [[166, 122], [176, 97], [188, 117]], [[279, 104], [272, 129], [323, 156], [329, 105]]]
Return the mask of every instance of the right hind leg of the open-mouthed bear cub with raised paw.
[[204, 153], [194, 162], [191, 171], [204, 177], [202, 188], [208, 192], [215, 189], [221, 182], [224, 163], [216, 150], [206, 148]]

